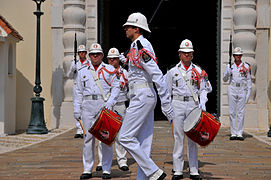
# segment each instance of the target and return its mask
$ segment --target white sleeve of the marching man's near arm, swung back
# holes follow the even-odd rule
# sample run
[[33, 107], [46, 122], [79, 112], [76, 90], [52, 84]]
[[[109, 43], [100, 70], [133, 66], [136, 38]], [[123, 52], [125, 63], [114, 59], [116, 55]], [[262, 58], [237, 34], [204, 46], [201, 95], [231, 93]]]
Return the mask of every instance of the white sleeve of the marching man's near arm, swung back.
[[147, 71], [150, 75], [152, 81], [155, 83], [156, 89], [158, 91], [158, 95], [161, 99], [161, 104], [170, 103], [170, 94], [168, 91], [168, 87], [163, 76], [162, 71], [159, 69], [158, 65], [154, 62], [154, 60], [150, 60], [147, 63], [142, 62], [142, 67]]

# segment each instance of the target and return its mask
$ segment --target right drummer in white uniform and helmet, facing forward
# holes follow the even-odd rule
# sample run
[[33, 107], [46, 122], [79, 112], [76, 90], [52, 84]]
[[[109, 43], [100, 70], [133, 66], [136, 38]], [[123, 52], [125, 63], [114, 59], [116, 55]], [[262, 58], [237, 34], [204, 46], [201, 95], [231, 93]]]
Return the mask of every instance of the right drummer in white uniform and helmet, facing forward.
[[[184, 120], [197, 107], [205, 110], [208, 93], [207, 74], [199, 66], [192, 63], [194, 52], [192, 42], [188, 39], [183, 40], [178, 52], [180, 62], [165, 75], [169, 92], [173, 98], [172, 107], [175, 114], [173, 120], [175, 141], [173, 150], [174, 175], [172, 180], [183, 179]], [[198, 172], [197, 144], [189, 138], [187, 138], [187, 142], [190, 178], [201, 179]]]

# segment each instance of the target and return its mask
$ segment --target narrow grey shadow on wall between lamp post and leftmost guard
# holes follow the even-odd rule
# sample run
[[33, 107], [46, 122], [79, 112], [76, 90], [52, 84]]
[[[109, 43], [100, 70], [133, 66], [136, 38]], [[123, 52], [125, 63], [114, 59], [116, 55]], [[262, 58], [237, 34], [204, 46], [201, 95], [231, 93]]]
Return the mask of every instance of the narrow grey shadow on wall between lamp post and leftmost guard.
[[64, 72], [63, 68], [58, 67], [53, 72], [52, 77], [52, 89], [51, 89], [51, 95], [53, 98], [53, 108], [52, 108], [52, 121], [53, 123], [51, 127], [53, 128], [59, 128], [60, 123], [60, 110], [61, 110], [61, 104], [63, 102], [64, 98]]

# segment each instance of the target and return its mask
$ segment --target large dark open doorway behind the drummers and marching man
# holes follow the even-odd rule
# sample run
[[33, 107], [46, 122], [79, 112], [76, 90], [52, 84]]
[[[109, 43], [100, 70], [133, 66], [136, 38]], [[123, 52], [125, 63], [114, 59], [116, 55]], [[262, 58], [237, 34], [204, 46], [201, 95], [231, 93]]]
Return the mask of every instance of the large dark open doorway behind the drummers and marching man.
[[[122, 25], [133, 12], [141, 12], [148, 20], [160, 0], [105, 0], [99, 1], [100, 43], [105, 53], [111, 47], [125, 52], [130, 47]], [[208, 94], [207, 111], [217, 113], [217, 3], [215, 1], [164, 0], [150, 24], [148, 38], [152, 43], [158, 65], [165, 74], [167, 69], [179, 62], [178, 49], [182, 40], [189, 39], [194, 46], [193, 63], [201, 66], [209, 75], [213, 91]], [[155, 110], [155, 119], [165, 119], [160, 101]]]

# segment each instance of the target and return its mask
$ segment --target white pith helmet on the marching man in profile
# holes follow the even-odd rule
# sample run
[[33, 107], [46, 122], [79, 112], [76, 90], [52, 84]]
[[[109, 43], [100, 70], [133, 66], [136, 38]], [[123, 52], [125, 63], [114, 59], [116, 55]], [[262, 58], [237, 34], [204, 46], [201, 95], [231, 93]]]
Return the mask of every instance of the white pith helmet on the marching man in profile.
[[148, 26], [147, 18], [139, 12], [132, 13], [128, 17], [127, 22], [123, 24], [123, 26], [135, 26], [144, 29], [149, 33], [151, 32]]

